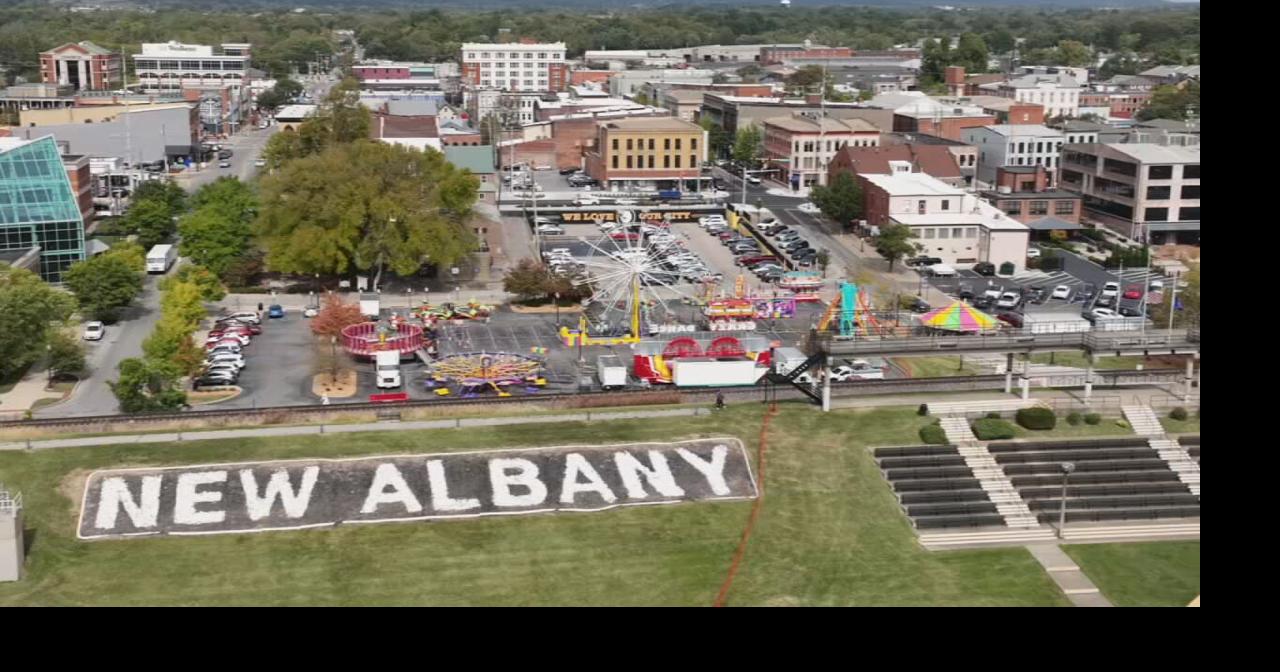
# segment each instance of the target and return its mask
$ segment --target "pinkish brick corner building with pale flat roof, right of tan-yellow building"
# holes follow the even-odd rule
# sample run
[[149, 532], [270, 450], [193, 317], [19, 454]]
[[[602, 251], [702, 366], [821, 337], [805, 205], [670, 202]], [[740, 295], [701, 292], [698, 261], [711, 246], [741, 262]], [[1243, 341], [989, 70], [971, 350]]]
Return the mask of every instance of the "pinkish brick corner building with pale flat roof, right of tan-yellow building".
[[824, 183], [844, 147], [879, 146], [879, 129], [861, 119], [774, 116], [764, 122], [764, 160], [792, 188]]

